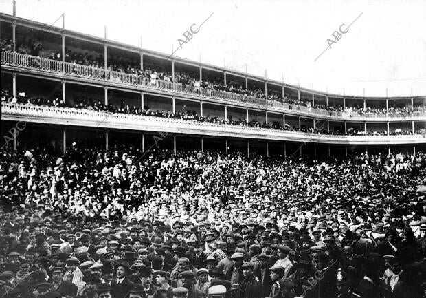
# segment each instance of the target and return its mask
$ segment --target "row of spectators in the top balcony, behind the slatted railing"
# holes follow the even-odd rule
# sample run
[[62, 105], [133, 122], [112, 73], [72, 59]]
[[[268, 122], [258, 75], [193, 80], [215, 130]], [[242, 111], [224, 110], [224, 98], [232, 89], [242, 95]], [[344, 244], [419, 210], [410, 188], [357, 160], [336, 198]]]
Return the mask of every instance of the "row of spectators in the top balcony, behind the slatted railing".
[[[1, 50], [12, 51], [12, 40], [7, 38], [1, 39], [0, 47]], [[96, 54], [95, 52], [74, 52], [67, 48], [65, 48], [65, 57], [63, 58], [61, 52], [46, 51], [41, 41], [32, 39], [23, 39], [16, 43], [16, 52], [90, 67], [104, 68], [105, 62], [102, 54]], [[169, 81], [183, 86], [192, 87], [198, 92], [201, 89], [204, 89], [206, 94], [211, 94], [212, 90], [231, 92], [243, 96], [252, 96], [260, 100], [267, 100], [269, 104], [273, 104], [274, 102], [287, 103], [289, 105], [297, 105], [300, 107], [339, 111], [350, 115], [358, 114], [363, 116], [365, 114], [374, 114], [382, 117], [386, 114], [390, 114], [391, 116], [409, 116], [413, 112], [426, 111], [425, 103], [417, 104], [414, 107], [391, 105], [388, 111], [385, 107], [366, 107], [366, 109], [364, 109], [358, 105], [352, 105], [351, 107], [343, 107], [339, 104], [326, 105], [325, 103], [315, 103], [315, 105], [313, 105], [312, 101], [307, 98], [293, 98], [290, 94], [282, 96], [282, 93], [273, 92], [272, 90], [269, 90], [268, 94], [266, 94], [265, 89], [261, 89], [256, 85], [252, 85], [246, 89], [245, 86], [243, 86], [243, 83], [228, 81], [227, 84], [225, 84], [220, 78], [214, 78], [207, 75], [204, 76], [203, 81], [200, 80], [198, 72], [179, 70], [175, 71], [175, 78], [173, 78], [170, 67], [166, 67], [161, 64], [144, 63], [144, 70], [142, 70], [139, 59], [135, 58], [130, 59], [120, 56], [110, 56], [106, 61], [106, 66], [108, 70], [122, 72], [125, 74], [135, 74], [137, 76], [143, 76], [144, 78], [153, 80], [153, 85], [157, 85], [158, 80]], [[110, 79], [120, 81], [120, 77], [116, 77], [114, 75], [111, 75]]]

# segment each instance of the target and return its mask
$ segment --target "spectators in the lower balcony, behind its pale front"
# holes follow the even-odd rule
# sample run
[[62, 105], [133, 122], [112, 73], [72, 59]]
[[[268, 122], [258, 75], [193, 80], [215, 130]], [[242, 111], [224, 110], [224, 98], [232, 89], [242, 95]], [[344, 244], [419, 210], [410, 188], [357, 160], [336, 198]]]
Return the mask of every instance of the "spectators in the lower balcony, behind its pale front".
[[[210, 115], [200, 116], [199, 114], [197, 114], [197, 111], [188, 110], [186, 106], [183, 108], [183, 111], [176, 111], [175, 113], [173, 113], [170, 110], [154, 111], [150, 109], [149, 107], [144, 107], [144, 109], [142, 109], [141, 107], [136, 107], [134, 105], [127, 105], [126, 103], [124, 103], [124, 100], [122, 100], [122, 103], [120, 105], [113, 105], [111, 103], [109, 105], [105, 105], [100, 100], [96, 101], [96, 100], [93, 100], [93, 98], [82, 97], [82, 98], [75, 98], [74, 105], [68, 105], [63, 103], [63, 100], [59, 98], [44, 98], [41, 96], [30, 96], [30, 94], [27, 94], [25, 92], [19, 92], [16, 98], [14, 98], [12, 94], [8, 92], [8, 90], [3, 90], [1, 92], [1, 101], [10, 102], [10, 103], [32, 104], [32, 105], [47, 105], [47, 106], [53, 106], [53, 107], [74, 107], [76, 109], [89, 109], [93, 111], [108, 111], [110, 113], [175, 118], [175, 119], [190, 120], [190, 121], [197, 121], [197, 122], [239, 125], [243, 127], [260, 127], [260, 128], [267, 128], [267, 129], [302, 131], [302, 132], [307, 132], [311, 134], [352, 135], [352, 136], [360, 136], [360, 135], [386, 136], [388, 135], [388, 131], [386, 130], [370, 129], [366, 132], [364, 131], [364, 129], [350, 128], [345, 133], [344, 129], [341, 129], [341, 130], [335, 129], [333, 131], [328, 131], [327, 129], [324, 129], [325, 125], [322, 125], [320, 127], [315, 127], [314, 129], [313, 127], [296, 127], [294, 125], [291, 126], [288, 123], [285, 123], [284, 126], [282, 126], [282, 123], [278, 123], [278, 122], [266, 123], [266, 121], [264, 121], [260, 123], [256, 119], [249, 120], [249, 122], [247, 122], [247, 119], [245, 118], [243, 119], [229, 118], [227, 121], [225, 121], [223, 117], [210, 116]], [[416, 129], [414, 133], [422, 134], [424, 136], [426, 133], [426, 129]], [[413, 134], [413, 132], [406, 129], [395, 129], [394, 131], [390, 131], [391, 136], [410, 135], [410, 134]]]

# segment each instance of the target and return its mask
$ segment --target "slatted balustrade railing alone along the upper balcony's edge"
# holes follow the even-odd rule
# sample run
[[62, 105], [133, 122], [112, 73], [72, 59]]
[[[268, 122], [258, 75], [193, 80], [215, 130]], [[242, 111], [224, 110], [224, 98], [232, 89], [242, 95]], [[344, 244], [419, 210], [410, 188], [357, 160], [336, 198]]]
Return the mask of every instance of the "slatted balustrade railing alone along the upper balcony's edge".
[[[217, 91], [214, 89], [205, 89], [203, 87], [192, 87], [188, 85], [182, 85], [179, 83], [172, 83], [170, 81], [163, 80], [151, 80], [144, 76], [137, 76], [135, 74], [126, 74], [124, 72], [115, 72], [113, 70], [105, 70], [103, 68], [91, 67], [87, 65], [79, 65], [76, 63], [69, 63], [63, 61], [56, 61], [49, 58], [42, 58], [38, 56], [31, 56], [27, 54], [20, 54], [16, 52], [5, 51], [1, 53], [1, 64], [10, 65], [13, 67], [23, 67], [30, 70], [41, 70], [44, 72], [54, 72], [58, 74], [65, 74], [67, 76], [74, 76], [78, 78], [89, 78], [97, 81], [106, 81], [112, 83], [120, 83], [124, 85], [130, 85], [132, 87], [147, 87], [152, 89], [162, 89], [172, 92], [178, 92], [181, 94], [189, 94], [192, 96], [204, 96], [208, 98], [216, 98], [222, 100], [229, 100], [232, 103], [240, 105], [241, 103], [249, 103], [257, 105], [260, 109], [267, 107], [276, 107], [285, 111], [300, 111], [309, 116], [326, 116], [334, 118], [352, 118], [362, 120], [363, 118], [413, 118], [426, 116], [426, 111], [413, 112], [412, 114], [402, 115], [401, 114], [376, 114], [376, 113], [364, 113], [359, 114], [353, 112], [350, 114], [346, 111], [328, 111], [325, 109], [315, 109], [312, 107], [304, 107], [302, 105], [295, 105], [290, 103], [281, 103], [276, 100], [267, 100], [263, 98], [257, 98], [254, 96], [246, 96], [243, 94], [235, 94], [232, 92]], [[283, 111], [284, 112], [284, 111]], [[339, 119], [342, 120], [342, 119]]]

